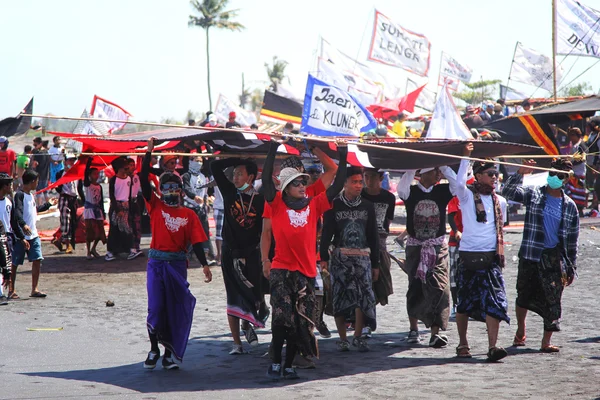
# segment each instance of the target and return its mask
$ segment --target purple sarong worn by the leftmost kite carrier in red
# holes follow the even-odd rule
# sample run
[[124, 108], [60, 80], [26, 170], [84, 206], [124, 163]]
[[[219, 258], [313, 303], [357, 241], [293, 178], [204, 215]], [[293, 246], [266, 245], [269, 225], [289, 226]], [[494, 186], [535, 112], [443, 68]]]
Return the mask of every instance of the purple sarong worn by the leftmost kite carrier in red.
[[189, 286], [186, 260], [148, 259], [148, 332], [156, 334], [179, 361], [187, 347], [196, 306]]

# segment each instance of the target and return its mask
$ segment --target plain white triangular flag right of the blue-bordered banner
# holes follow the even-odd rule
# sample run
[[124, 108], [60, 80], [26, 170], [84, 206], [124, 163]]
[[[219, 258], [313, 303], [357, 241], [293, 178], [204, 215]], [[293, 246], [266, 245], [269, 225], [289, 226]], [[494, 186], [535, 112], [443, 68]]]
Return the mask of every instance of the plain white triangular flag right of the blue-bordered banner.
[[427, 130], [427, 139], [473, 139], [473, 135], [456, 109], [447, 86], [444, 86], [439, 93]]

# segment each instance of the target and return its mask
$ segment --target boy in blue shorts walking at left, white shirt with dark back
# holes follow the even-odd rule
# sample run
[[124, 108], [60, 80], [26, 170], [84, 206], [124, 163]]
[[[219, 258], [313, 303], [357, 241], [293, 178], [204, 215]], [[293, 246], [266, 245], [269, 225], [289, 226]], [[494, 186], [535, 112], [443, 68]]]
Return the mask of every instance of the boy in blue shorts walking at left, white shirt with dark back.
[[16, 293], [15, 283], [17, 280], [17, 267], [25, 262], [25, 255], [31, 262], [31, 294], [29, 297], [46, 297], [46, 293], [41, 292], [38, 288], [40, 280], [40, 271], [42, 268], [42, 242], [38, 235], [36, 227], [36, 218], [38, 212], [44, 212], [51, 206], [56, 205], [56, 199], [50, 199], [49, 202], [42, 204], [41, 206], [36, 205], [35, 201], [35, 189], [38, 185], [39, 175], [33, 170], [27, 170], [23, 173], [23, 190], [18, 191], [14, 198], [14, 212], [17, 222], [23, 233], [25, 239], [23, 241], [17, 240], [14, 243], [14, 254], [13, 254], [13, 268], [11, 271], [11, 282], [10, 282], [10, 293], [9, 297], [12, 299], [18, 299], [19, 296]]

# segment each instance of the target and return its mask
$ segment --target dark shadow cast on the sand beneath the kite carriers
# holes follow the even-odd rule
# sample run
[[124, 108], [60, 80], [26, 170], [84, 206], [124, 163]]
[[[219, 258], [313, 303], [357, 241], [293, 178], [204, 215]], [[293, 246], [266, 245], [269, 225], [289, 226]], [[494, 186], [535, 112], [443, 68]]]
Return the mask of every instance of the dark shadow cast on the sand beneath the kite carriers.
[[348, 353], [338, 353], [335, 339], [320, 340], [321, 357], [317, 361], [317, 369], [299, 370], [301, 379], [297, 381], [273, 382], [265, 376], [270, 364], [270, 360], [265, 355], [268, 344], [253, 348], [248, 355], [230, 356], [228, 354], [230, 342], [213, 340], [214, 337], [211, 335], [192, 338], [186, 352], [185, 363], [178, 371], [163, 370], [160, 368], [160, 362], [155, 370], [144, 370], [143, 360], [140, 360], [139, 363], [116, 367], [29, 372], [23, 375], [104, 383], [141, 393], [164, 393], [258, 389], [413, 367], [457, 363], [487, 364], [484, 354], [477, 354], [474, 355], [477, 358], [463, 360], [446, 356], [448, 352], [444, 350], [440, 350], [440, 356], [443, 354], [444, 357], [415, 357], [414, 353], [410, 357], [403, 357], [403, 352], [415, 350], [415, 347], [410, 347], [406, 343], [406, 333], [382, 334], [371, 339], [369, 353], [358, 353], [355, 348]]

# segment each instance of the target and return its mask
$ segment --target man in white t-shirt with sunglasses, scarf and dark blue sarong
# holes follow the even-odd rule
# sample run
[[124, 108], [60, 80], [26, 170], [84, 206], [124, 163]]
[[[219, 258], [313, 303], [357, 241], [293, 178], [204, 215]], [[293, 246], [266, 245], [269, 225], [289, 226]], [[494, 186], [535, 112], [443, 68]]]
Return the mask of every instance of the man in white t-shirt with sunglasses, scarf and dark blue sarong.
[[[473, 144], [465, 146], [463, 155], [470, 157]], [[463, 159], [457, 174], [455, 193], [460, 201], [463, 232], [456, 271], [458, 304], [456, 326], [460, 343], [456, 354], [470, 358], [467, 340], [469, 317], [487, 325], [488, 360], [507, 356], [496, 346], [500, 321], [510, 323], [502, 269], [504, 268], [503, 226], [506, 200], [495, 193], [498, 170], [493, 161], [475, 162], [475, 183], [467, 186], [469, 161]]]

